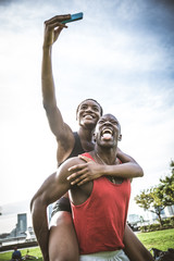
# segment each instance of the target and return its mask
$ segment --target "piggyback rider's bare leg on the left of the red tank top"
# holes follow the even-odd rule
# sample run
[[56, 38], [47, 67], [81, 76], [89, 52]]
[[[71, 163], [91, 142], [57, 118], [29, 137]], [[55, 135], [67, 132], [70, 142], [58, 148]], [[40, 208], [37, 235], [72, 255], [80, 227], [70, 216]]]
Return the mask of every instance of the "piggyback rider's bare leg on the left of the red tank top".
[[78, 244], [67, 211], [59, 211], [51, 219], [49, 236], [50, 261], [78, 261]]

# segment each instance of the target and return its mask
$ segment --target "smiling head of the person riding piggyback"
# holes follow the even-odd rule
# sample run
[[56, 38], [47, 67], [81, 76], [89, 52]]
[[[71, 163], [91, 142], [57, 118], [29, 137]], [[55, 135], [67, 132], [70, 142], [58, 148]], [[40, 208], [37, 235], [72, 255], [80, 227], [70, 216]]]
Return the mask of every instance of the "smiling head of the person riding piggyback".
[[77, 121], [79, 126], [92, 126], [95, 127], [101, 114], [101, 110], [98, 103], [92, 100], [84, 101], [77, 112]]

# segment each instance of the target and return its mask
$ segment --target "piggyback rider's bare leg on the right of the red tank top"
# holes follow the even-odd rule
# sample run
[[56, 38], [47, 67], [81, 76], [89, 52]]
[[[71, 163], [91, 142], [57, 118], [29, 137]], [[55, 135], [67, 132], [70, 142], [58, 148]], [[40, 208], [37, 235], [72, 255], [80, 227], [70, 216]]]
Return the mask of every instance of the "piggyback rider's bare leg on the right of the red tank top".
[[125, 226], [123, 243], [125, 253], [130, 261], [153, 261], [151, 253], [139, 241], [128, 225]]

